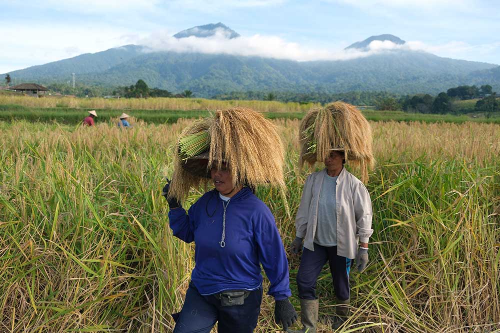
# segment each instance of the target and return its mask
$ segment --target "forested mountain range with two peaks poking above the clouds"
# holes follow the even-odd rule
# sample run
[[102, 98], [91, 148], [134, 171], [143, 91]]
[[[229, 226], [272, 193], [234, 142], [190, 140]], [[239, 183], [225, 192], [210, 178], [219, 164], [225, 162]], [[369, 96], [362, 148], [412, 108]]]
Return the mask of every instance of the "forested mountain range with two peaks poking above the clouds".
[[[195, 28], [177, 35], [198, 33], [200, 36], [204, 33], [200, 31], [227, 27], [217, 23]], [[392, 35], [381, 35], [349, 47], [362, 48], [372, 40], [389, 40], [387, 38], [404, 42]], [[256, 56], [160, 52], [126, 45], [9, 74], [17, 82], [49, 84], [67, 82], [72, 72], [76, 74], [77, 83], [87, 85], [115, 87], [143, 79], [150, 87], [172, 92], [189, 89], [198, 97], [249, 90], [297, 93], [384, 90], [399, 94], [437, 94], [465, 84], [490, 84], [493, 90], [500, 90], [500, 67], [497, 65], [397, 49], [350, 60], [299, 62]]]

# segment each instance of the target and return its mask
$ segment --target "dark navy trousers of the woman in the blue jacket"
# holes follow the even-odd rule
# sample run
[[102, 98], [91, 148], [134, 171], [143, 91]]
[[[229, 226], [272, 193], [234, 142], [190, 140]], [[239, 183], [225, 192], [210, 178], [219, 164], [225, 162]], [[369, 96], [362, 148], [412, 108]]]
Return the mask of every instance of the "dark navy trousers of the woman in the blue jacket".
[[190, 283], [173, 333], [209, 333], [216, 322], [218, 333], [252, 333], [261, 301], [262, 287], [252, 291], [243, 305], [222, 307], [215, 296], [200, 295]]

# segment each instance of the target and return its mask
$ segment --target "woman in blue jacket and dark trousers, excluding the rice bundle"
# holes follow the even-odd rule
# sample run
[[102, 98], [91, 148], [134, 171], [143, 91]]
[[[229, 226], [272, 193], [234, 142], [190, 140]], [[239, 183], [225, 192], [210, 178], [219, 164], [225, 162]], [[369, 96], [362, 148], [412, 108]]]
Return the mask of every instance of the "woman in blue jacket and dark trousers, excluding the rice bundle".
[[[208, 168], [208, 152], [194, 159]], [[233, 181], [227, 162], [208, 169], [215, 188], [187, 212], [169, 194], [170, 184], [163, 188], [173, 235], [195, 244], [195, 266], [173, 332], [209, 333], [215, 323], [219, 333], [253, 332], [262, 298], [260, 265], [270, 281], [275, 321], [286, 331], [297, 315], [288, 300], [288, 261], [274, 218], [248, 186]]]

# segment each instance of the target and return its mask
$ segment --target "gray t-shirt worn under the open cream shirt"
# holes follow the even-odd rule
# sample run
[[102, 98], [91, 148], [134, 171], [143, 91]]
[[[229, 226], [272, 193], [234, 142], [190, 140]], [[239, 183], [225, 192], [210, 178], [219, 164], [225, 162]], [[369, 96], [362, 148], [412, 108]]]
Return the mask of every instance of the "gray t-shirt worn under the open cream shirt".
[[337, 177], [324, 175], [319, 193], [316, 233], [314, 234], [314, 243], [321, 246], [337, 245], [336, 187]]

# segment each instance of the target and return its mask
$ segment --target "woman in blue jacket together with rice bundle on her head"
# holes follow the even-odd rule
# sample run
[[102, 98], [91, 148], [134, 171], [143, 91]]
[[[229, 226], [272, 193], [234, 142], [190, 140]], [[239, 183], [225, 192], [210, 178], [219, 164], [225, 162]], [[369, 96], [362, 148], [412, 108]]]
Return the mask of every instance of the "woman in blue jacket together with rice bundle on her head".
[[[288, 261], [274, 217], [253, 194], [257, 185], [284, 189], [284, 154], [275, 126], [235, 107], [192, 123], [175, 148], [172, 182], [163, 188], [173, 236], [194, 242], [194, 269], [174, 333], [251, 333], [262, 301], [262, 265], [284, 331], [297, 319]], [[213, 184], [186, 212], [189, 189]]]

